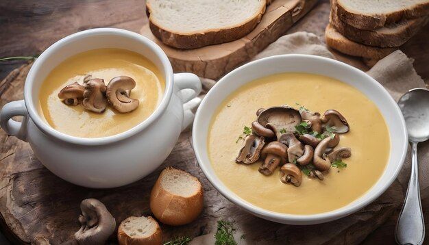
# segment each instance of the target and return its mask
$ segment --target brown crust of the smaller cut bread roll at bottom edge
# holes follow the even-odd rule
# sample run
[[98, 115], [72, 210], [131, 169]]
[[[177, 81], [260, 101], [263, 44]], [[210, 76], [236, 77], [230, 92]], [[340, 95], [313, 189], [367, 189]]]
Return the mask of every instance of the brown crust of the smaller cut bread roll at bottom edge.
[[[130, 218], [140, 218], [140, 217], [131, 216], [126, 218], [125, 220]], [[150, 216], [147, 218], [154, 221], [154, 223], [156, 224], [156, 231], [154, 233], [144, 238], [130, 237], [123, 229], [123, 223], [125, 221], [123, 220], [123, 222], [121, 222], [121, 224], [119, 224], [119, 227], [118, 227], [119, 244], [120, 245], [139, 245], [139, 244], [160, 245], [162, 244], [162, 231], [161, 231], [160, 225], [158, 224], [158, 222], [156, 222], [156, 220], [154, 220], [154, 218]]]

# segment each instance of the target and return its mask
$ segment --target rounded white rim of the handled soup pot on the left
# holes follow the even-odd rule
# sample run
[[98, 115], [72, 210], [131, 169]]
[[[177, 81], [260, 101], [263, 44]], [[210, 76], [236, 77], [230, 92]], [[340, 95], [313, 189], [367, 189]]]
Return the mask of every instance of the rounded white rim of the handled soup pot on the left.
[[132, 136], [135, 136], [139, 131], [142, 131], [146, 127], [149, 127], [151, 123], [154, 123], [154, 121], [157, 120], [164, 113], [165, 109], [167, 109], [167, 106], [169, 105], [171, 96], [173, 94], [173, 68], [171, 68], [169, 59], [167, 55], [164, 53], [164, 51], [162, 51], [162, 49], [155, 42], [152, 42], [148, 38], [145, 38], [144, 36], [141, 36], [140, 34], [136, 34], [132, 31], [127, 31], [125, 29], [117, 29], [117, 28], [97, 28], [97, 29], [88, 29], [86, 31], [79, 31], [75, 34], [71, 34], [70, 36], [66, 36], [65, 38], [58, 40], [57, 42], [52, 44], [48, 49], [46, 49], [34, 62], [32, 68], [29, 70], [26, 81], [34, 80], [36, 71], [38, 71], [43, 65], [42, 64], [43, 60], [53, 55], [56, 52], [56, 49], [64, 47], [70, 42], [73, 42], [79, 38], [82, 38], [82, 36], [88, 36], [88, 35], [90, 36], [110, 35], [110, 36], [122, 36], [122, 37], [125, 36], [126, 38], [130, 38], [133, 40], [137, 40], [138, 42], [142, 42], [143, 45], [146, 45], [147, 47], [149, 47], [149, 49], [152, 49], [154, 53], [158, 54], [158, 57], [164, 66], [164, 70], [161, 70], [161, 72], [164, 73], [164, 76], [165, 76], [165, 90], [164, 90], [164, 94], [162, 94], [161, 103], [158, 105], [158, 107], [156, 107], [155, 111], [152, 112], [152, 114], [148, 118], [143, 120], [142, 123], [136, 125], [135, 127], [132, 127], [132, 129], [128, 129], [127, 131], [124, 131], [122, 133], [115, 134], [114, 136], [107, 136], [103, 138], [79, 138], [75, 136], [69, 136], [65, 133], [61, 133], [60, 131], [57, 131], [56, 129], [53, 129], [51, 126], [49, 126], [47, 123], [45, 123], [45, 121], [41, 119], [41, 116], [38, 114], [37, 109], [34, 107], [34, 104], [32, 102], [33, 101], [32, 88], [34, 84], [26, 82], [24, 86], [24, 99], [25, 99], [25, 106], [27, 107], [27, 112], [29, 114], [29, 117], [33, 120], [34, 124], [43, 133], [46, 133], [48, 136], [51, 136], [53, 138], [57, 138], [58, 140], [62, 140], [64, 142], [69, 142], [72, 144], [81, 144], [81, 145], [110, 144], [112, 142], [117, 142], [120, 140], [124, 140], [126, 138], [130, 138]]

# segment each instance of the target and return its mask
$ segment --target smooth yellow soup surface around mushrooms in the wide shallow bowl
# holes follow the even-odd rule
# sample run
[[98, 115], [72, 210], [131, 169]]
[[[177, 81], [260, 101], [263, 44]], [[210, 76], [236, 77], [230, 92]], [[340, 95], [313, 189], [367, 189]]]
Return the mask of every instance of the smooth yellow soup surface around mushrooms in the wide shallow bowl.
[[[295, 187], [280, 181], [280, 168], [271, 176], [258, 172], [261, 159], [236, 164], [243, 144], [236, 140], [256, 120], [256, 111], [284, 104], [298, 108], [295, 103], [322, 115], [336, 109], [347, 119], [350, 131], [336, 146], [352, 149], [352, 157], [343, 159], [347, 168], [330, 168], [323, 181], [303, 174]], [[352, 203], [381, 177], [389, 153], [389, 131], [372, 101], [346, 83], [305, 73], [271, 75], [233, 92], [215, 112], [208, 132], [208, 155], [219, 179], [245, 201], [283, 214], [317, 214]]]

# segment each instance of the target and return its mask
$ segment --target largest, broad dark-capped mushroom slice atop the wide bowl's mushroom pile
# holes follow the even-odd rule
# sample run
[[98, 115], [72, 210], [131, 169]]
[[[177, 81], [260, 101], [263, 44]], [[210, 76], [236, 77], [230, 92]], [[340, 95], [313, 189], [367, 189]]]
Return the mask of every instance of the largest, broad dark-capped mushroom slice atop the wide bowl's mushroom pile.
[[294, 132], [295, 126], [302, 122], [297, 109], [286, 106], [269, 107], [258, 116], [258, 123], [274, 131], [277, 138], [284, 132]]

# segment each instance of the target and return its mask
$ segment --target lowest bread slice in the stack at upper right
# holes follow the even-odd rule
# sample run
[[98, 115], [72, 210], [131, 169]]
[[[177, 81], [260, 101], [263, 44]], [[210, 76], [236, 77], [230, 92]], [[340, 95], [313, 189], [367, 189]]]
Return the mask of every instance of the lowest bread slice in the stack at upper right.
[[325, 29], [326, 44], [332, 49], [347, 55], [365, 57], [367, 59], [380, 60], [389, 55], [397, 48], [371, 47], [358, 42], [353, 42], [341, 35], [336, 29], [328, 24]]

